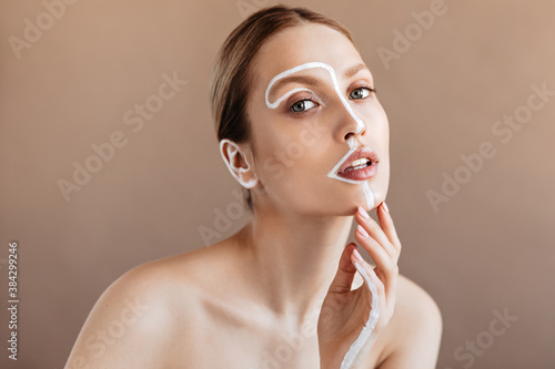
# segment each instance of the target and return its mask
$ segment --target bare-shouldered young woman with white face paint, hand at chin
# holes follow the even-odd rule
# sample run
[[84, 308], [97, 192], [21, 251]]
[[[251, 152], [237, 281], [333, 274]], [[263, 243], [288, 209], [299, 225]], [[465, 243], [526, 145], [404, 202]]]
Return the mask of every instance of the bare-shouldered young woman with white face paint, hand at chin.
[[252, 219], [120, 277], [65, 368], [435, 368], [441, 314], [398, 275], [387, 117], [349, 31], [263, 9], [222, 47], [211, 98]]

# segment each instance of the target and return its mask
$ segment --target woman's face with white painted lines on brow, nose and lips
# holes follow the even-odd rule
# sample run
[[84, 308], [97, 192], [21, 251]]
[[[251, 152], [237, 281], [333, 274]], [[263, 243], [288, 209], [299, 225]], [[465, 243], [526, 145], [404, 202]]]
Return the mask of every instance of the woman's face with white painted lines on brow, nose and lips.
[[256, 206], [352, 215], [385, 199], [387, 117], [347, 38], [322, 24], [289, 28], [263, 44], [251, 73]]

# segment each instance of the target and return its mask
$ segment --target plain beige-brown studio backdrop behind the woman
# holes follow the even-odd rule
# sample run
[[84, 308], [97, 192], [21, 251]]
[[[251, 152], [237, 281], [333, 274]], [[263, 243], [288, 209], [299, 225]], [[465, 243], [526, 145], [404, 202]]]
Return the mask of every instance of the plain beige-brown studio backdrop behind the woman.
[[[19, 360], [8, 361], [3, 347], [2, 368], [60, 368], [117, 277], [203, 247], [202, 227], [221, 227], [218, 240], [246, 221], [215, 223], [238, 185], [218, 153], [209, 76], [245, 12], [273, 3], [81, 0], [18, 59], [8, 38], [22, 39], [26, 18], [36, 23], [44, 6], [1, 2], [0, 290], [6, 301], [8, 242], [17, 240], [21, 298]], [[555, 99], [509, 142], [492, 132], [526, 105], [532, 84], [555, 90], [555, 3], [446, 0], [389, 69], [376, 50], [393, 49], [393, 31], [404, 32], [431, 0], [289, 3], [346, 24], [373, 71], [392, 131], [387, 202], [404, 245], [401, 271], [443, 311], [437, 368], [468, 363], [455, 350], [477, 337], [487, 344], [493, 310], [505, 308], [518, 320], [471, 367], [555, 367]], [[125, 112], [174, 72], [186, 85], [133, 132]], [[127, 145], [67, 202], [57, 181], [72, 181], [72, 163], [84, 165], [91, 144], [115, 131]], [[440, 192], [442, 173], [452, 176], [460, 155], [483, 142], [496, 155], [434, 212], [426, 191]]]

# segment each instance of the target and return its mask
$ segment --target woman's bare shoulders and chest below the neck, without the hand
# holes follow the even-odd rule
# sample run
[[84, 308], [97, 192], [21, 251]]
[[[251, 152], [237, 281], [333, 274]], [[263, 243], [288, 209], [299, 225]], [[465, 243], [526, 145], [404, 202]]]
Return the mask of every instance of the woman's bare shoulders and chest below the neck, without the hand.
[[[236, 257], [236, 238], [239, 234], [120, 277], [91, 311], [65, 368], [262, 369], [275, 361], [281, 368], [320, 368], [317, 312], [279, 315], [266, 304], [253, 303], [260, 299], [249, 290], [245, 262], [229, 263]], [[362, 285], [356, 276], [354, 287]], [[139, 305], [129, 317], [135, 321], [123, 322], [124, 334], [115, 337], [109, 328], [122, 321], [127, 299]], [[312, 327], [312, 335], [300, 334], [303, 324]], [[441, 329], [433, 299], [401, 275], [395, 314], [360, 368], [435, 368]], [[87, 339], [89, 347], [97, 346], [88, 348]]]

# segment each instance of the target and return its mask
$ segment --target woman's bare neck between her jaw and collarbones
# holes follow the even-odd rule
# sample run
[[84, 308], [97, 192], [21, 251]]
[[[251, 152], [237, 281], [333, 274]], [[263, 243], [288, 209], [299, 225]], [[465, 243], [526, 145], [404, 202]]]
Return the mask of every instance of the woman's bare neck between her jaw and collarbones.
[[238, 234], [252, 288], [279, 316], [299, 321], [320, 310], [346, 246], [351, 216], [256, 212]]

